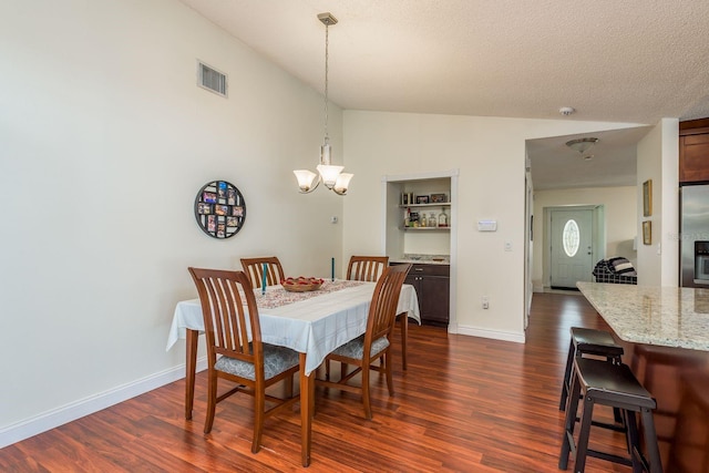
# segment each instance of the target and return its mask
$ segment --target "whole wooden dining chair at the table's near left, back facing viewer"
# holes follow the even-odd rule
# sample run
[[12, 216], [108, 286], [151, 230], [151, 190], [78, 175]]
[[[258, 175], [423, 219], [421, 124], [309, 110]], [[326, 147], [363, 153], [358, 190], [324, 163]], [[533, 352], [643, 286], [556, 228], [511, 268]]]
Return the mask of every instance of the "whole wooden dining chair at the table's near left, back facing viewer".
[[[212, 431], [218, 402], [236, 392], [246, 392], [254, 397], [251, 452], [257, 453], [266, 418], [299, 399], [292, 395], [292, 377], [299, 369], [299, 354], [289, 348], [261, 341], [256, 298], [245, 273], [188, 269], [199, 294], [207, 340], [208, 389], [204, 433]], [[219, 379], [237, 385], [218, 394]], [[286, 380], [285, 399], [266, 394], [266, 388], [281, 380]], [[268, 409], [267, 402], [271, 404]]]

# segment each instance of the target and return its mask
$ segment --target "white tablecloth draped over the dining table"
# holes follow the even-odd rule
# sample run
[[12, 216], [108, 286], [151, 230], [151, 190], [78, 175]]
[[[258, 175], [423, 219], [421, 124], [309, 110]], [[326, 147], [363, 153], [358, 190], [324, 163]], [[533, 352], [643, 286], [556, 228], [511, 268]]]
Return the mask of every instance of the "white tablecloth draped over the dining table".
[[[366, 282], [281, 307], [259, 308], [261, 340], [307, 353], [306, 374], [309, 374], [337, 347], [364, 333], [374, 286]], [[402, 312], [421, 323], [413, 286], [401, 288], [397, 313]], [[177, 302], [166, 350], [186, 337], [186, 329], [204, 331], [199, 299]]]

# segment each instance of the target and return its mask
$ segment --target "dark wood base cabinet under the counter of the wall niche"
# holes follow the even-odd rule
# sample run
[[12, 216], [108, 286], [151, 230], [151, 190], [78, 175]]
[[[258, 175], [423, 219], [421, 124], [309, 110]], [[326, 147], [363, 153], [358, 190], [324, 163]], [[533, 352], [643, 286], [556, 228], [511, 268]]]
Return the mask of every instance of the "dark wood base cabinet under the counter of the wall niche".
[[417, 290], [422, 323], [448, 326], [451, 307], [450, 275], [449, 265], [413, 265], [411, 267], [405, 284], [410, 284]]

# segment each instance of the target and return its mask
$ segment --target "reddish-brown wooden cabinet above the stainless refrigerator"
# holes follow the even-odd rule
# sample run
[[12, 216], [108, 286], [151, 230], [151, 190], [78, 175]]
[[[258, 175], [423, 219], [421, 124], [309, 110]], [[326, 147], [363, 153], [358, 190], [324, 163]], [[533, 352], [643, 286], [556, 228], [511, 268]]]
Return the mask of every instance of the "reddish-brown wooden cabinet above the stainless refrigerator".
[[679, 124], [679, 182], [709, 182], [709, 119]]

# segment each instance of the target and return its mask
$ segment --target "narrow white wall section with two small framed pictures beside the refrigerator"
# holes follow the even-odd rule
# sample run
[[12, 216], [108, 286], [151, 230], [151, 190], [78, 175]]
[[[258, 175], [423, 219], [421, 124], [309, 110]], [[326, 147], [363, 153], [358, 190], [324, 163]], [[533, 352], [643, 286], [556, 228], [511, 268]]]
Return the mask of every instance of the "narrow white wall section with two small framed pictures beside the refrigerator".
[[[653, 244], [638, 241], [638, 285], [679, 284], [679, 121], [662, 119], [638, 143], [638, 236], [651, 222]], [[653, 215], [643, 216], [643, 183], [653, 179]], [[646, 270], [647, 268], [647, 270]]]

